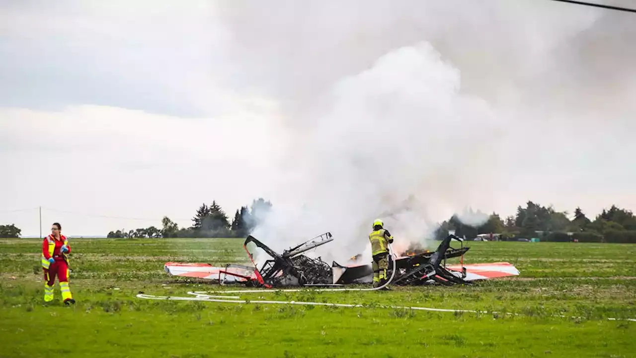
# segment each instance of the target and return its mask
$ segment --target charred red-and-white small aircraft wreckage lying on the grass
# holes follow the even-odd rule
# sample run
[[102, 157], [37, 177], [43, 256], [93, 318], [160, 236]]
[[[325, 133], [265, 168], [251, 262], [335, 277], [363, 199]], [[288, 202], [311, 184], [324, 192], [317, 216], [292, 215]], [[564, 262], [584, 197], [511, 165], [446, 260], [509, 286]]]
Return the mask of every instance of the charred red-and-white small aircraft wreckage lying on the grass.
[[[243, 247], [253, 266], [227, 264], [219, 267], [207, 263], [166, 262], [164, 270], [173, 276], [214, 280], [220, 284], [244, 283], [249, 287], [340, 286], [348, 283], [370, 283], [373, 278], [371, 262], [368, 264], [350, 262], [347, 265], [341, 265], [333, 261], [329, 266], [320, 257], [312, 259], [303, 255], [308, 250], [331, 241], [333, 236], [328, 232], [278, 254], [250, 235], [245, 239]], [[452, 247], [452, 241], [457, 241], [460, 247]], [[248, 246], [261, 248], [270, 256], [260, 269], [254, 262], [254, 254], [250, 252]], [[451, 234], [439, 243], [434, 252], [408, 252], [399, 257], [390, 257], [389, 277], [391, 277], [394, 264], [396, 268], [391, 285], [471, 284], [474, 280], [519, 275], [515, 266], [508, 262], [464, 265], [464, 254], [468, 250], [469, 247], [464, 247], [464, 240]], [[459, 264], [446, 264], [448, 259], [456, 257], [460, 257]]]

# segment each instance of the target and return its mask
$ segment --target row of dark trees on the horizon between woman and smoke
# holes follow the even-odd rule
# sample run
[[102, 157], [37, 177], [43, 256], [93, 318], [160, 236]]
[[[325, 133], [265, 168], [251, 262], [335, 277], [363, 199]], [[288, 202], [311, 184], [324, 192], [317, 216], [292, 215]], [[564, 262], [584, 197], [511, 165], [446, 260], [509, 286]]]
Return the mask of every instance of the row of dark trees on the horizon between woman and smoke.
[[232, 220], [216, 203], [201, 204], [192, 218], [190, 227], [179, 227], [169, 217], [162, 218], [160, 229], [147, 228], [111, 231], [108, 238], [243, 238], [270, 212], [272, 203], [262, 197], [252, 201], [251, 207], [241, 206]]

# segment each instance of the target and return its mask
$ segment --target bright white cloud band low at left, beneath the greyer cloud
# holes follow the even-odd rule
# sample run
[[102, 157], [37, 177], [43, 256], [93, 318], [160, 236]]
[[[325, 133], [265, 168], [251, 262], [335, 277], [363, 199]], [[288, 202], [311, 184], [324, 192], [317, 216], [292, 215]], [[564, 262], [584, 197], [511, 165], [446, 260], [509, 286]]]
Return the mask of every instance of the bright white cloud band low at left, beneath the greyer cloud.
[[[147, 226], [169, 215], [189, 226], [197, 206], [216, 199], [233, 215], [261, 195], [266, 177], [258, 173], [268, 170], [283, 144], [272, 141], [280, 135], [275, 108], [260, 102], [254, 103], [258, 114], [237, 111], [214, 119], [102, 106], [59, 113], [0, 110], [0, 159], [11, 173], [0, 178], [6, 194], [0, 210], [41, 205], [74, 211], [79, 214], [62, 215], [64, 220], [53, 212], [46, 219], [66, 221], [78, 234], [143, 226], [85, 214], [155, 218], [141, 223]], [[25, 233], [36, 234], [30, 214], [19, 215]]]

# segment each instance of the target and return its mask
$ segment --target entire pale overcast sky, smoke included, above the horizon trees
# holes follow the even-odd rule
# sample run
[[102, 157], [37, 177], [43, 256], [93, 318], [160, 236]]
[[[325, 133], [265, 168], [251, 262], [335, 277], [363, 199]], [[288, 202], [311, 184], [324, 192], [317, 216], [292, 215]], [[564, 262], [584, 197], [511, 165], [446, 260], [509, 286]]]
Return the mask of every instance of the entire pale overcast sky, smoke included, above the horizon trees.
[[15, 0], [0, 34], [0, 224], [24, 236], [38, 206], [44, 233], [105, 235], [259, 196], [309, 237], [408, 200], [422, 222], [528, 200], [636, 210], [634, 14]]

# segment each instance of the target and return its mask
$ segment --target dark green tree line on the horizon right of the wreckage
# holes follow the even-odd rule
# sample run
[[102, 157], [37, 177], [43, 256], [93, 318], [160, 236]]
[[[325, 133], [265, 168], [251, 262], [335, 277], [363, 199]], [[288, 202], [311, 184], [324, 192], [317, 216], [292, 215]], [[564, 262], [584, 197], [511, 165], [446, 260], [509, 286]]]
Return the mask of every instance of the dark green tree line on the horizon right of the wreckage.
[[[478, 216], [480, 213], [469, 213]], [[552, 206], [528, 201], [518, 206], [515, 215], [501, 218], [497, 213], [488, 215], [478, 226], [464, 224], [458, 215], [442, 222], [435, 232], [436, 238], [448, 235], [476, 238], [479, 234], [496, 234], [499, 240], [539, 238], [544, 241], [588, 241], [636, 243], [636, 217], [632, 211], [612, 205], [604, 209], [594, 220], [586, 217], [581, 208], [574, 209], [570, 220], [567, 211], [556, 211]]]

